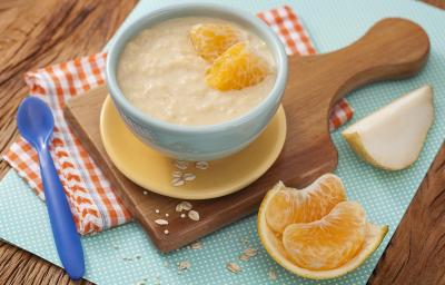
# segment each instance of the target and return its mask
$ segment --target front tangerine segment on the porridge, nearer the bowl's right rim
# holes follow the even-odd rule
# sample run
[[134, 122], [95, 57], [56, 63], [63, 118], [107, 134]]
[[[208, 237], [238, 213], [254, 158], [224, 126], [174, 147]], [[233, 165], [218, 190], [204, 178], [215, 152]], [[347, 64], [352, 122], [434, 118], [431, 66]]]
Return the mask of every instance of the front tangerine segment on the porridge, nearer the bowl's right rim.
[[221, 91], [239, 90], [263, 81], [268, 63], [241, 41], [231, 46], [206, 71], [206, 82]]

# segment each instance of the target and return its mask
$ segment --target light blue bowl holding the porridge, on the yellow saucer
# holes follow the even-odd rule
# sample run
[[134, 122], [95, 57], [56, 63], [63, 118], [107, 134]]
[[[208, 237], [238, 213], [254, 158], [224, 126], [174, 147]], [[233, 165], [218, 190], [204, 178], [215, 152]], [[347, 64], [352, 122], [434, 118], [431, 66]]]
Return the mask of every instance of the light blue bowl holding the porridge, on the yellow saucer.
[[[269, 47], [277, 67], [276, 82], [270, 94], [244, 116], [216, 125], [175, 125], [144, 114], [134, 107], [120, 90], [116, 70], [126, 43], [145, 28], [168, 19], [189, 16], [212, 17], [236, 22], [255, 32]], [[287, 65], [283, 43], [275, 32], [255, 16], [209, 3], [175, 4], [145, 14], [115, 39], [107, 57], [106, 81], [120, 116], [145, 144], [177, 159], [212, 160], [241, 150], [261, 134], [281, 101], [287, 81]]]

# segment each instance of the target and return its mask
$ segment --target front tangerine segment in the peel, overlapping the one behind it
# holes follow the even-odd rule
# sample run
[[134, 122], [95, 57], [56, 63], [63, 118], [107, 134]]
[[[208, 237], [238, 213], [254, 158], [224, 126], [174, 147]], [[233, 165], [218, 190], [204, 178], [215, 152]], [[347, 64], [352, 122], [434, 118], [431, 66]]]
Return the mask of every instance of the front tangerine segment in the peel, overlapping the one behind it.
[[342, 202], [323, 219], [293, 224], [283, 244], [298, 266], [314, 271], [337, 268], [362, 248], [366, 235], [365, 210], [357, 202]]

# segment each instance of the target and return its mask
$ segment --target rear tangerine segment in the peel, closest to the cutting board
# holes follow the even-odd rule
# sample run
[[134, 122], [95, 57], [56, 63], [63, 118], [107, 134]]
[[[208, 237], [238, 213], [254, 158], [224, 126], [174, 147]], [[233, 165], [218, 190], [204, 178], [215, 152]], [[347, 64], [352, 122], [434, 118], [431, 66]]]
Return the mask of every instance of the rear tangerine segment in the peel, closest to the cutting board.
[[277, 194], [266, 209], [267, 225], [276, 233], [295, 223], [318, 220], [340, 202], [346, 200], [345, 187], [334, 174], [325, 174], [305, 189], [298, 190], [278, 183]]

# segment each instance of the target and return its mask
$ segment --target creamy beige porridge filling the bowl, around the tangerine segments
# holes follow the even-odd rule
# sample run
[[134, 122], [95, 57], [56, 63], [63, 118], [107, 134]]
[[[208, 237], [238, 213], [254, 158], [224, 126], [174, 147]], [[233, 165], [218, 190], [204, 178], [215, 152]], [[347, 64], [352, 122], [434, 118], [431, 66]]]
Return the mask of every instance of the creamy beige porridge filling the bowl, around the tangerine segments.
[[[189, 38], [196, 24], [230, 24], [250, 50], [267, 62], [260, 82], [240, 90], [217, 90], [206, 83], [211, 62], [200, 57]], [[212, 125], [248, 112], [270, 92], [275, 60], [253, 32], [219, 19], [178, 18], [142, 30], [125, 47], [118, 65], [118, 83], [128, 100], [148, 116], [178, 125]]]

